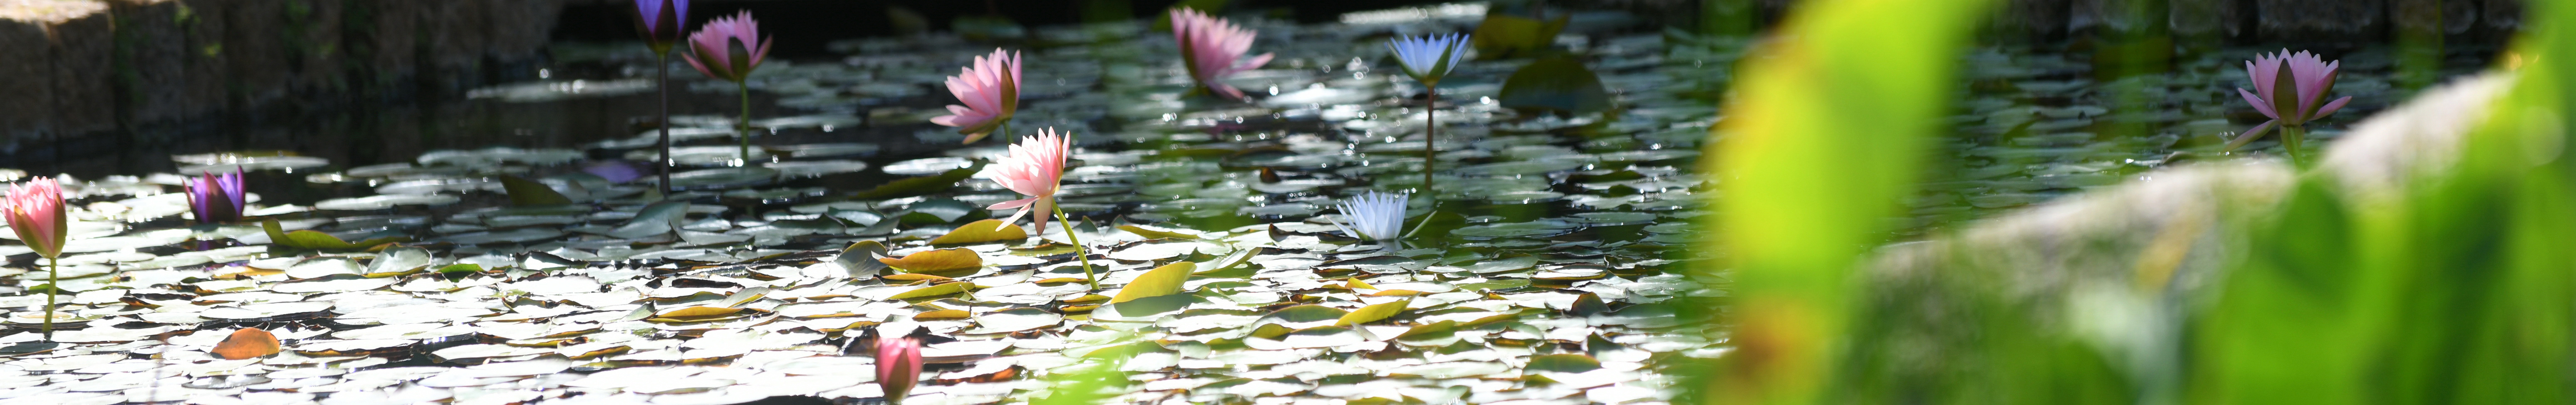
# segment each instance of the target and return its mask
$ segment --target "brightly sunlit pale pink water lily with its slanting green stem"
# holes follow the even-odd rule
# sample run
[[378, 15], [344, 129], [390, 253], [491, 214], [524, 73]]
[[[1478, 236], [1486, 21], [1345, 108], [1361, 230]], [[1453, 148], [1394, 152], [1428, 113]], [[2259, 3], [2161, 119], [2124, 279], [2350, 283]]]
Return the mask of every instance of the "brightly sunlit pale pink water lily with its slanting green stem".
[[1090, 248], [1084, 248], [1082, 237], [1074, 235], [1074, 222], [1064, 217], [1064, 206], [1056, 206], [1056, 191], [1064, 188], [1064, 157], [1072, 147], [1074, 137], [1059, 137], [1056, 129], [1038, 129], [1038, 137], [1020, 137], [1018, 144], [1010, 144], [1010, 155], [997, 160], [1002, 168], [992, 181], [1028, 199], [999, 201], [984, 209], [1020, 209], [1012, 212], [1010, 219], [1002, 219], [1002, 227], [1020, 222], [1028, 212], [1038, 212], [1030, 222], [1036, 222], [1036, 230], [1041, 232], [1046, 230], [1046, 214], [1054, 212], [1056, 222], [1064, 224], [1064, 237], [1074, 242], [1074, 255], [1082, 258], [1082, 279], [1087, 279], [1092, 289], [1100, 289], [1100, 276], [1092, 273]]

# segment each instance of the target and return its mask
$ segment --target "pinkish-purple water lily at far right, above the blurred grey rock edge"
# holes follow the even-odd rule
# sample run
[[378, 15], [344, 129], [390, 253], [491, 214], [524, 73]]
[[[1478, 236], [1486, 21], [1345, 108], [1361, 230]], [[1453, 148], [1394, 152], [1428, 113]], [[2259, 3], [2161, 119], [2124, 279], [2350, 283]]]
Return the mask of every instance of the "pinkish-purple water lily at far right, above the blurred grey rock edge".
[[2331, 116], [2352, 103], [2352, 95], [2336, 98], [2318, 106], [2316, 101], [2334, 90], [2334, 77], [2344, 62], [2326, 62], [2316, 54], [2280, 49], [2280, 54], [2254, 54], [2246, 62], [2246, 77], [2254, 80], [2254, 90], [2236, 88], [2254, 111], [2272, 116], [2246, 134], [2228, 142], [2228, 150], [2244, 147], [2259, 139], [2264, 132], [2280, 129], [2280, 144], [2290, 150], [2290, 160], [2300, 160], [2300, 144], [2308, 139], [2308, 121]]

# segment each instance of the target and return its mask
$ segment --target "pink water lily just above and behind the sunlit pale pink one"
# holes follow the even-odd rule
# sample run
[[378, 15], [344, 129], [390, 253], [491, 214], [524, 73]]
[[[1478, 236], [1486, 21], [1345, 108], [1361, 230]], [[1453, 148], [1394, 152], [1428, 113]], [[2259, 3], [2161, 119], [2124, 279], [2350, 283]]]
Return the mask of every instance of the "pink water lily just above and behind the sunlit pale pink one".
[[992, 49], [989, 57], [974, 57], [974, 64], [948, 77], [948, 93], [966, 106], [951, 103], [948, 116], [930, 116], [930, 124], [958, 126], [969, 144], [1010, 132], [1010, 114], [1020, 111], [1020, 52]]

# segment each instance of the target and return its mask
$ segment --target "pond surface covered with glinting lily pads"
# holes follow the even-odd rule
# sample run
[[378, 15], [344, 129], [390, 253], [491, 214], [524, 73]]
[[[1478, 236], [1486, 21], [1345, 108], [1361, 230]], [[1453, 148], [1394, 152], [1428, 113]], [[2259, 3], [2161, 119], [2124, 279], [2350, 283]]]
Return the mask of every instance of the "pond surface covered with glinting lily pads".
[[[62, 160], [75, 219], [59, 289], [64, 346], [0, 359], [0, 400], [31, 402], [750, 402], [876, 400], [868, 343], [927, 341], [907, 402], [1012, 402], [1121, 371], [1118, 402], [1664, 402], [1690, 359], [1726, 351], [1718, 253], [1682, 250], [1716, 98], [1747, 41], [1623, 28], [1584, 13], [1574, 49], [1615, 114], [1504, 108], [1528, 59], [1468, 62], [1440, 85], [1422, 193], [1422, 85], [1388, 34], [1473, 18], [1278, 23], [1255, 101], [1193, 98], [1167, 34], [1141, 23], [1033, 28], [1015, 134], [961, 144], [930, 126], [943, 88], [994, 44], [863, 39], [770, 62], [752, 80], [755, 157], [737, 157], [732, 83], [675, 70], [685, 191], [657, 204], [652, 72], [639, 44], [562, 44], [541, 80], [453, 103], [242, 129], [149, 157]], [[2089, 54], [1981, 46], [1958, 137], [1899, 235], [2110, 186], [2259, 119], [2236, 59], [2097, 80]], [[2460, 49], [2476, 54], [2478, 49]], [[2385, 49], [2357, 46], [2342, 124], [2403, 101]], [[2450, 75], [2483, 59], [2460, 57]], [[2125, 103], [2120, 103], [2125, 101]], [[1865, 116], [1855, 116], [1865, 119]], [[1020, 199], [981, 163], [1041, 126], [1079, 150], [1061, 227], [958, 232]], [[294, 144], [294, 147], [289, 147]], [[286, 150], [286, 152], [242, 152]], [[2249, 152], [2277, 150], [2257, 142]], [[183, 173], [250, 173], [252, 217], [358, 248], [281, 242], [258, 222], [185, 219]], [[15, 181], [23, 173], [0, 173]], [[574, 204], [513, 206], [500, 175]], [[920, 181], [907, 181], [920, 178]], [[1342, 235], [1329, 209], [1414, 191], [1406, 245]], [[987, 227], [992, 222], [984, 222]], [[976, 227], [984, 230], [984, 227]], [[15, 235], [0, 235], [15, 237]], [[948, 237], [948, 240], [940, 240]], [[855, 245], [853, 245], [855, 242]], [[374, 245], [374, 248], [368, 248]], [[922, 253], [976, 263], [894, 271]], [[41, 261], [0, 245], [10, 335], [33, 348]], [[907, 258], [909, 255], [909, 258]], [[1128, 289], [1177, 291], [1126, 299]], [[1087, 286], [1095, 268], [1100, 289]], [[1115, 299], [1115, 304], [1110, 304]], [[237, 328], [281, 353], [222, 359]]]

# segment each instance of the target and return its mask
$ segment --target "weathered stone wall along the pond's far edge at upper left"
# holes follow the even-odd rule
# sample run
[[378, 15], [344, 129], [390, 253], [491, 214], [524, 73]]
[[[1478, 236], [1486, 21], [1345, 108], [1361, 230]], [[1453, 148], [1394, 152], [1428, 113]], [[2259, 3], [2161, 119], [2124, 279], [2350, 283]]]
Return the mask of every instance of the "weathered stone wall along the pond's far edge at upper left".
[[564, 0], [0, 0], [0, 152], [332, 101], [399, 101], [538, 62]]

